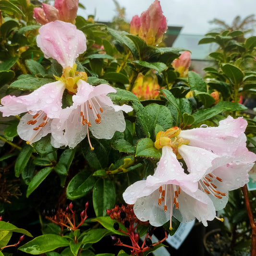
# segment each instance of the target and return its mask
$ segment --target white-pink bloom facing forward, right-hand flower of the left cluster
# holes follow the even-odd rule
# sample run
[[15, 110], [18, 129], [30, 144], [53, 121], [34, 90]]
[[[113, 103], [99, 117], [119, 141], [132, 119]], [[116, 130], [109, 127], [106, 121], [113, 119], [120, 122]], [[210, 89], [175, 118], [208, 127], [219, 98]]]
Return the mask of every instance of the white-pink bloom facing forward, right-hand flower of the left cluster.
[[82, 141], [88, 129], [100, 139], [110, 139], [116, 131], [125, 130], [125, 121], [122, 110], [132, 111], [128, 105], [118, 106], [112, 103], [106, 96], [110, 92], [116, 92], [110, 85], [92, 86], [83, 80], [77, 82], [77, 93], [73, 95], [73, 105], [62, 111], [61, 118], [53, 120], [51, 127], [52, 141], [55, 147], [76, 146]]

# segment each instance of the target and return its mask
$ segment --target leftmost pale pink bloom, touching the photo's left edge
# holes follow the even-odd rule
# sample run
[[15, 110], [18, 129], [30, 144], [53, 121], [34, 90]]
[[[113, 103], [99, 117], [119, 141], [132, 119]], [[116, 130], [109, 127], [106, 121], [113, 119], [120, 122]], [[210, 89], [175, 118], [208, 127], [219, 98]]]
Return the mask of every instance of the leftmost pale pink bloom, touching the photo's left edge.
[[31, 94], [1, 99], [0, 111], [3, 116], [26, 113], [18, 125], [19, 136], [29, 144], [38, 141], [50, 133], [53, 118], [60, 118], [62, 94], [65, 83], [57, 81], [43, 85]]

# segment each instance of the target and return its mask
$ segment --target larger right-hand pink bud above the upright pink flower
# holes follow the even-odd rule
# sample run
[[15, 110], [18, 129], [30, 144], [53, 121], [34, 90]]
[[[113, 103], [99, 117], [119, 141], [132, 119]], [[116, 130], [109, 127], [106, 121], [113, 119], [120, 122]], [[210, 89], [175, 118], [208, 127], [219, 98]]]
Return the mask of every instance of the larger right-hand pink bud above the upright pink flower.
[[61, 21], [75, 23], [79, 0], [55, 0], [54, 7], [59, 10]]

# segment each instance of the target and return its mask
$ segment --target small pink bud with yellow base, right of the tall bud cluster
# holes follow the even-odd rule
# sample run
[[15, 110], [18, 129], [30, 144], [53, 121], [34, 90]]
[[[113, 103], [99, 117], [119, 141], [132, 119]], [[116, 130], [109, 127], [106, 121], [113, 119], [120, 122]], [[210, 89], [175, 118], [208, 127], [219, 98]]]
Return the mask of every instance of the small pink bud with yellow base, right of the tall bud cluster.
[[173, 68], [180, 73], [180, 77], [186, 77], [188, 75], [188, 68], [190, 66], [191, 53], [184, 51], [179, 59], [172, 61]]

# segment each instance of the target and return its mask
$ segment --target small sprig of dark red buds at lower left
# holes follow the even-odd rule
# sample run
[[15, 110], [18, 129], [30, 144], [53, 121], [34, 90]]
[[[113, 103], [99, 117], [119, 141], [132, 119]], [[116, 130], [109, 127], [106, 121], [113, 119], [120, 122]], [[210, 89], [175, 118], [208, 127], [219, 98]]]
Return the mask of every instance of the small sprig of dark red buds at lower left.
[[85, 204], [85, 209], [80, 213], [81, 221], [78, 225], [75, 223], [75, 211], [73, 211], [72, 202], [65, 209], [59, 207], [56, 214], [53, 216], [46, 216], [45, 218], [59, 225], [61, 227], [61, 231], [63, 231], [64, 228], [75, 231], [85, 222], [85, 219], [87, 219], [87, 207], [88, 202]]

